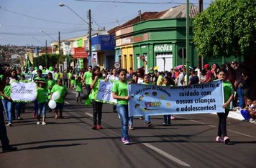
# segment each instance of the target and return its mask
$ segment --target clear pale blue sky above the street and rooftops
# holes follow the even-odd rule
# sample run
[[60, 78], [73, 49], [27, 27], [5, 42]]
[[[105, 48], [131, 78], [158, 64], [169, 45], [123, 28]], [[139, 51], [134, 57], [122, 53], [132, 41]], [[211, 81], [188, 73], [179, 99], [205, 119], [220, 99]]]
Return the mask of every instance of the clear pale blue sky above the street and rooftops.
[[[104, 0], [119, 2], [170, 2], [170, 0]], [[173, 0], [183, 2], [186, 0]], [[198, 0], [190, 0], [198, 5]], [[0, 45], [11, 44], [25, 46], [42, 46], [45, 40], [48, 45], [52, 39], [83, 36], [88, 33], [88, 24], [74, 14], [70, 9], [58, 4], [63, 3], [76, 11], [84, 20], [87, 11], [91, 9], [93, 30], [106, 27], [112, 29], [118, 24], [124, 24], [138, 15], [138, 11], [164, 11], [178, 4], [122, 4], [110, 2], [88, 2], [75, 0], [0, 0]], [[204, 0], [204, 9], [211, 3]], [[45, 31], [47, 34], [40, 32]], [[93, 31], [94, 32], [94, 31]]]

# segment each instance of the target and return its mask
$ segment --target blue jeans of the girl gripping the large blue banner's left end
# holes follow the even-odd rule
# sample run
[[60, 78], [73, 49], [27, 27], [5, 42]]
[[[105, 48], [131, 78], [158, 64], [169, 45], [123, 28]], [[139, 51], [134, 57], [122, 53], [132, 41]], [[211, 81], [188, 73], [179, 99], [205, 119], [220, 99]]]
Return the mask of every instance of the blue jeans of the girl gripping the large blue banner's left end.
[[117, 104], [117, 112], [121, 118], [122, 124], [122, 138], [129, 139], [128, 135], [128, 104]]

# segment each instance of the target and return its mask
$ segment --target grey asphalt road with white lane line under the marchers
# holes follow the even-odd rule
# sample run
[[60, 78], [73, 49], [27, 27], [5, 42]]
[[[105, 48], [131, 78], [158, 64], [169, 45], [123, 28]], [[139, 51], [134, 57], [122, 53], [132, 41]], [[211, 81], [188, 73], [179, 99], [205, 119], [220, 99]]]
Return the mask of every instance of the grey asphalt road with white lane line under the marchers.
[[215, 114], [175, 115], [170, 126], [162, 116], [151, 117], [152, 127], [134, 119], [131, 144], [121, 142], [121, 122], [104, 104], [101, 130], [92, 130], [92, 109], [66, 99], [64, 119], [47, 112], [47, 125], [32, 118], [27, 104], [22, 121], [7, 127], [18, 151], [0, 153], [0, 167], [256, 167], [256, 124], [228, 119], [231, 144], [215, 142]]

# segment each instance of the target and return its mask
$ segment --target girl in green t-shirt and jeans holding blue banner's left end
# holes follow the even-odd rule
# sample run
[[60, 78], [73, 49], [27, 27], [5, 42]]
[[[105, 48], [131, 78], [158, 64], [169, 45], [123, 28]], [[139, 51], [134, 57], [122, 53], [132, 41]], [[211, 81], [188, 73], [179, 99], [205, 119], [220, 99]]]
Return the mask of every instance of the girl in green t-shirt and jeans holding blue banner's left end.
[[119, 81], [116, 81], [112, 87], [113, 98], [117, 100], [117, 112], [121, 118], [122, 124], [122, 142], [129, 144], [128, 135], [128, 84], [127, 84], [127, 71], [119, 69]]

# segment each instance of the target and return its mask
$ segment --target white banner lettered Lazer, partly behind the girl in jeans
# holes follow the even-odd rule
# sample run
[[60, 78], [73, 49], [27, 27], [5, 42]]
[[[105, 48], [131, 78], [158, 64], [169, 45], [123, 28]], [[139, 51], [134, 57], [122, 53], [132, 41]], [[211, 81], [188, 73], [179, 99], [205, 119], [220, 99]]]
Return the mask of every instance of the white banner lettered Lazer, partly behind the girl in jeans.
[[101, 80], [99, 83], [97, 100], [110, 104], [116, 104], [116, 99], [112, 97], [112, 87], [112, 82]]

